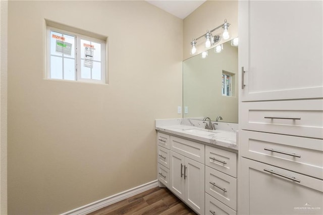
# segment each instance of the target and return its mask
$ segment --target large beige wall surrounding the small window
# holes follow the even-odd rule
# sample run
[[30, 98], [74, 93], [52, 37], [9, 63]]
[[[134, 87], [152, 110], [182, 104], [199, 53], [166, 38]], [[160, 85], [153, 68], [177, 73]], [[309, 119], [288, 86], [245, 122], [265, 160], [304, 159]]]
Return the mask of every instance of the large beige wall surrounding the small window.
[[[109, 37], [109, 85], [44, 80], [44, 19]], [[156, 179], [178, 118], [183, 20], [143, 1], [9, 2], [10, 214], [58, 214]]]

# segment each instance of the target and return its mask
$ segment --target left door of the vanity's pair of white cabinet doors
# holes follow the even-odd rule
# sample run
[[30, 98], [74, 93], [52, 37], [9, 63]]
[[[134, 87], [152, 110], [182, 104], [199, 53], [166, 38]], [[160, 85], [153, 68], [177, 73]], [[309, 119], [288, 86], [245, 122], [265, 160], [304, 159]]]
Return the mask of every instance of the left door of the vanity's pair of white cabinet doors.
[[184, 184], [184, 156], [171, 151], [171, 191], [175, 193], [182, 200], [185, 199], [185, 184]]

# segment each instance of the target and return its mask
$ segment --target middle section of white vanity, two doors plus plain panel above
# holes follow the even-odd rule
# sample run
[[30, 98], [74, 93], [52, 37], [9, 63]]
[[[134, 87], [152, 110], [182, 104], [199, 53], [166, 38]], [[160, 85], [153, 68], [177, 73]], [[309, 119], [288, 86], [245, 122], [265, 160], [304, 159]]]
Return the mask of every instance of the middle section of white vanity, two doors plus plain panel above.
[[170, 190], [196, 212], [203, 214], [204, 145], [173, 136], [170, 144]]

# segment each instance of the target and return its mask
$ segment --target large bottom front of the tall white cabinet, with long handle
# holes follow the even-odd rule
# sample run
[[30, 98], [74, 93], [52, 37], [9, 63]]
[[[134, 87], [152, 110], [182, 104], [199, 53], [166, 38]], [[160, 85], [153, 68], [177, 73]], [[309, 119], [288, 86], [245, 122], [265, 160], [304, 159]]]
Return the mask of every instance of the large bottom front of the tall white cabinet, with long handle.
[[322, 214], [323, 181], [241, 158], [241, 214]]

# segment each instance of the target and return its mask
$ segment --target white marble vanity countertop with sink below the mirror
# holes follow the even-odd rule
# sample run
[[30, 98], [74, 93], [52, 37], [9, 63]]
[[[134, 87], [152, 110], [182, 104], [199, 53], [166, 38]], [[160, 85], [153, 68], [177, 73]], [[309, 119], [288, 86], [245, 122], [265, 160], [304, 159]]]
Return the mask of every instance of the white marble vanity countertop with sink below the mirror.
[[163, 125], [156, 123], [157, 131], [166, 132], [192, 140], [238, 150], [237, 132], [228, 130], [207, 130], [193, 125]]

